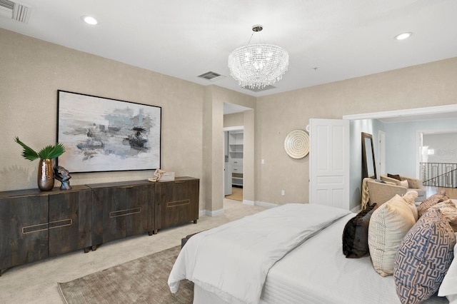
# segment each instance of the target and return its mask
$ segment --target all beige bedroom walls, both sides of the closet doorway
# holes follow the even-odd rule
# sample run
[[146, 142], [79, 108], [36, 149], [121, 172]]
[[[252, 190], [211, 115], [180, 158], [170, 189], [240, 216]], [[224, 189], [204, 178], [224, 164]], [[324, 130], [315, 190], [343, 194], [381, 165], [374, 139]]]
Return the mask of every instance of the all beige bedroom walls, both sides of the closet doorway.
[[[245, 146], [253, 155], [253, 163], [245, 163], [246, 183], [253, 183], [248, 200], [280, 204], [308, 202], [308, 156], [289, 158], [283, 140], [290, 131], [304, 129], [309, 118], [457, 103], [457, 58], [254, 98], [4, 29], [0, 44], [0, 191], [36, 188], [38, 161], [24, 160], [14, 137], [34, 148], [55, 142], [58, 89], [161, 106], [162, 168], [201, 178], [200, 208], [207, 211], [222, 208], [224, 102], [253, 108], [243, 117], [245, 133], [250, 128], [247, 137], [255, 141], [255, 146]], [[144, 179], [151, 174], [74, 174], [71, 184]]]

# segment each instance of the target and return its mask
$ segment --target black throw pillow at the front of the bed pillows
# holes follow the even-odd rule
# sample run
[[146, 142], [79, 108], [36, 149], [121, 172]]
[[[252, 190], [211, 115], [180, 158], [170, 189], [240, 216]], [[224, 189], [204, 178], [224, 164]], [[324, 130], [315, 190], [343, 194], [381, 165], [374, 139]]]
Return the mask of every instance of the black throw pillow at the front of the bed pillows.
[[351, 218], [343, 230], [343, 254], [346, 258], [361, 258], [368, 253], [368, 225], [376, 203]]

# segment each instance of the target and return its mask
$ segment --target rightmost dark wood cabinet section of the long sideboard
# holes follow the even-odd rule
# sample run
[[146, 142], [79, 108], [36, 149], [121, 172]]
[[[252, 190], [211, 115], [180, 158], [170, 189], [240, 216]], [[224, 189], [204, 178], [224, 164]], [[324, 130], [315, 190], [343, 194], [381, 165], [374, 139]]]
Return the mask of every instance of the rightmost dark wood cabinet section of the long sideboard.
[[156, 229], [199, 219], [200, 180], [189, 176], [156, 182]]

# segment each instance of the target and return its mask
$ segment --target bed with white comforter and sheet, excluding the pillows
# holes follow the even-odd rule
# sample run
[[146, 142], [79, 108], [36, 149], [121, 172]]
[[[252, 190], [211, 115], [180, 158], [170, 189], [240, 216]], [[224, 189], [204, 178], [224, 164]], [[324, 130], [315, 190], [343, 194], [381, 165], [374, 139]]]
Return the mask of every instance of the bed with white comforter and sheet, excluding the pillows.
[[[376, 273], [369, 255], [343, 255], [343, 228], [354, 216], [328, 206], [286, 204], [198, 233], [171, 270], [171, 292], [188, 279], [194, 303], [401, 304], [392, 275]], [[303, 229], [291, 231], [299, 223]], [[424, 303], [448, 300], [433, 295]]]

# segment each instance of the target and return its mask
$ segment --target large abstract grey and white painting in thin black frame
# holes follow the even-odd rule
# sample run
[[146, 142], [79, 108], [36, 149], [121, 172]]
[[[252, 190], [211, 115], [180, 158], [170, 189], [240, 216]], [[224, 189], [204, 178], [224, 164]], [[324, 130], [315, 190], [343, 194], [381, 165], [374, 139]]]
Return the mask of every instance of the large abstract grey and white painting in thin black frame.
[[161, 107], [58, 91], [59, 166], [71, 173], [161, 165]]

